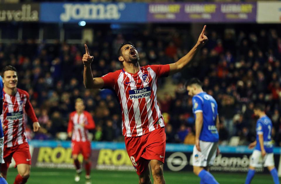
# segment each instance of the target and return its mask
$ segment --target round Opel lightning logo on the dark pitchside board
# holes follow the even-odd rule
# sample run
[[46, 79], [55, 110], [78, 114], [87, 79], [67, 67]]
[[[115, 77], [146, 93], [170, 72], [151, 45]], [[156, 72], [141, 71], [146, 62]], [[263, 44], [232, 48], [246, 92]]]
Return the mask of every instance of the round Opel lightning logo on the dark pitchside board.
[[180, 171], [187, 164], [187, 157], [182, 152], [175, 152], [167, 158], [167, 166], [171, 171]]

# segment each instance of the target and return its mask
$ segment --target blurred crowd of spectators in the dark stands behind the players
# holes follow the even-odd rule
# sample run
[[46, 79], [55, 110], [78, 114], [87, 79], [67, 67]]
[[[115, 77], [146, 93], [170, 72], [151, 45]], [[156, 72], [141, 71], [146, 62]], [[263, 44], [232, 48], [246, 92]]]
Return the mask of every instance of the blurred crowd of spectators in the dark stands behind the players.
[[[163, 29], [124, 35], [96, 30], [93, 43], [87, 43], [94, 56], [94, 77], [121, 69], [116, 51], [125, 40], [135, 43], [141, 66], [172, 63], [193, 46], [193, 38], [186, 31]], [[281, 35], [276, 29], [259, 32], [243, 31], [241, 27], [217, 29], [207, 29], [209, 41], [186, 72], [158, 82], [160, 92], [164, 91], [158, 102], [166, 121], [167, 142], [194, 144], [192, 102], [184, 83], [198, 77], [203, 82], [203, 90], [218, 103], [221, 144], [228, 144], [233, 136], [239, 138], [239, 145], [255, 140], [253, 106], [259, 102], [266, 104], [266, 112], [273, 122], [275, 145], [281, 146]], [[39, 133], [33, 134], [27, 120], [29, 139], [57, 139], [58, 132], [66, 132], [69, 113], [74, 111], [75, 99], [79, 97], [96, 123], [93, 140], [124, 140], [121, 110], [113, 92], [86, 90], [83, 85], [84, 52], [83, 44], [59, 41], [54, 44], [37, 44], [34, 40], [0, 43], [0, 67], [9, 64], [18, 69], [18, 87], [30, 94], [42, 126]], [[175, 90], [164, 89], [169, 81], [169, 89]]]

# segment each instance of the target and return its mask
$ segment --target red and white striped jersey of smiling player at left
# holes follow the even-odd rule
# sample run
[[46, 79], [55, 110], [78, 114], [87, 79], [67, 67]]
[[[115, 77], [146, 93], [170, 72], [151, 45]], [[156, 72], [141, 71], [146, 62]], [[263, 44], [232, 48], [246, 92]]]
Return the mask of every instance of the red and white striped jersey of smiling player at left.
[[4, 92], [3, 113], [0, 116], [5, 126], [4, 146], [12, 147], [27, 142], [25, 135], [25, 113], [32, 122], [38, 122], [32, 105], [29, 101], [28, 92], [18, 89], [15, 95], [11, 96]]

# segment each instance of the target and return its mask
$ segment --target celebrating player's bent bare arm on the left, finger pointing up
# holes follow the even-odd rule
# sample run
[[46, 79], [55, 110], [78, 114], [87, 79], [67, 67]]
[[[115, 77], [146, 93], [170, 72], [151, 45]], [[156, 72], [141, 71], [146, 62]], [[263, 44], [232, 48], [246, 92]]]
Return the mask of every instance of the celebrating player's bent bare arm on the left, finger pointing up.
[[84, 86], [87, 89], [100, 89], [104, 85], [102, 78], [97, 77], [93, 78], [91, 63], [93, 62], [94, 57], [90, 56], [87, 45], [85, 44], [86, 53], [83, 55], [83, 64], [84, 64], [84, 73], [83, 73], [83, 82]]

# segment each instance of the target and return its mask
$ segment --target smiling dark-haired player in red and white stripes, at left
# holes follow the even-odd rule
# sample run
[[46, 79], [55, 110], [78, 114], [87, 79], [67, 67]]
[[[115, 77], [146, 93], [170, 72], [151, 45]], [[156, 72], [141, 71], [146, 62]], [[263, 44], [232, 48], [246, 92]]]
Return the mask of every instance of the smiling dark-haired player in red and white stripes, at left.
[[24, 112], [28, 114], [33, 122], [33, 131], [40, 128], [32, 105], [29, 101], [29, 94], [17, 88], [18, 75], [13, 66], [6, 66], [3, 69], [4, 79], [4, 103], [1, 122], [4, 129], [4, 161], [1, 175], [6, 178], [11, 159], [16, 161], [18, 175], [14, 184], [26, 183], [30, 176], [31, 156], [28, 142], [25, 136]]

